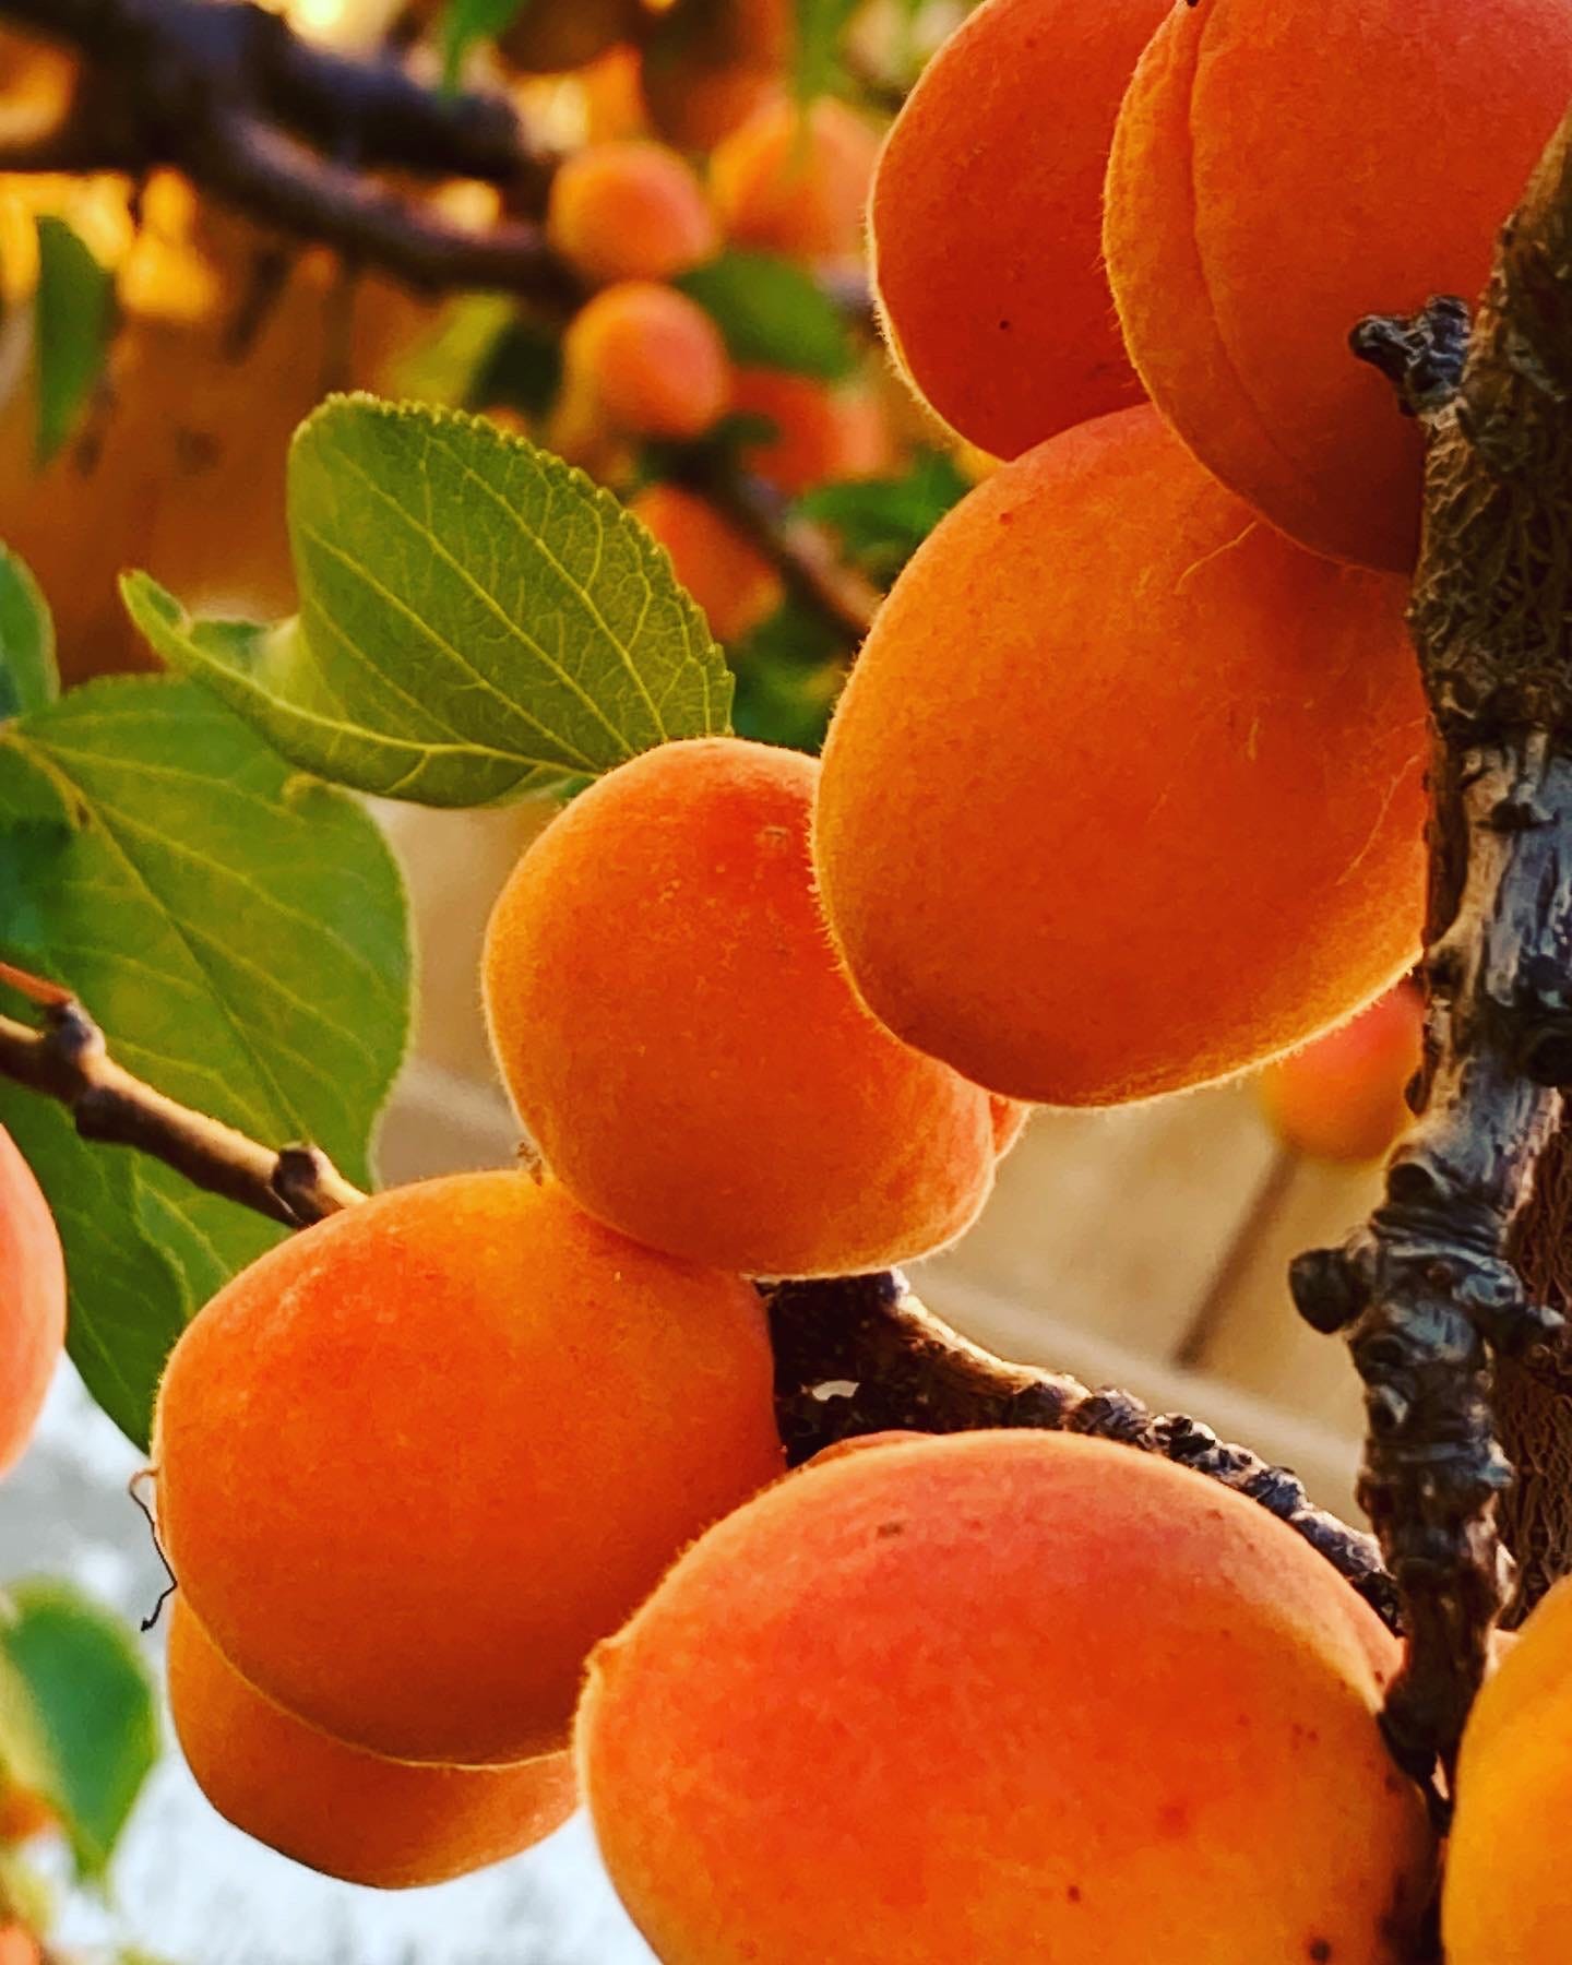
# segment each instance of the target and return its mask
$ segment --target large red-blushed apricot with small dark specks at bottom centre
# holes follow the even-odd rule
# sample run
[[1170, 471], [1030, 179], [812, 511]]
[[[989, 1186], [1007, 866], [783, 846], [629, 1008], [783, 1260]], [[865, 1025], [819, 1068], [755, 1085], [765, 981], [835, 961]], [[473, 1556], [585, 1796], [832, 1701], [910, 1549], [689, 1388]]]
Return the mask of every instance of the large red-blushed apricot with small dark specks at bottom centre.
[[1376, 1723], [1397, 1662], [1199, 1474], [908, 1440], [678, 1560], [591, 1656], [580, 1784], [682, 1965], [1399, 1965], [1432, 1843]]

